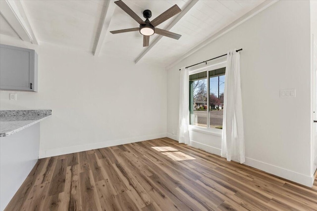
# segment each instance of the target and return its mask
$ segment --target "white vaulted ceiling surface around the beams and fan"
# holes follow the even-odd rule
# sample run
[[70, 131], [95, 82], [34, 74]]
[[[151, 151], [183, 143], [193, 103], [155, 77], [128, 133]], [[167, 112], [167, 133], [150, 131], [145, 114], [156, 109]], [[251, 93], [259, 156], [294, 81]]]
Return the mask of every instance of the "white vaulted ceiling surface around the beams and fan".
[[[113, 0], [110, 1], [109, 6], [105, 0], [24, 0], [21, 2], [39, 44], [49, 42], [92, 52], [94, 44], [98, 43], [101, 45], [100, 54], [115, 54], [130, 60], [137, 59], [147, 48], [143, 47], [143, 37], [138, 31], [115, 35], [109, 33], [114, 30], [139, 27], [139, 24], [115, 5]], [[191, 0], [123, 0], [123, 2], [142, 19], [144, 19], [143, 10], [150, 9], [151, 21], [174, 4], [184, 10]], [[146, 61], [167, 66], [179, 59], [184, 52], [204, 42], [262, 2], [264, 0], [199, 0], [169, 30], [182, 37], [179, 40], [163, 37], [152, 47], [151, 43], [159, 36], [151, 36], [150, 50], [140, 62]], [[113, 14], [110, 14], [110, 22], [107, 26], [102, 25], [105, 12], [109, 15], [111, 11]], [[163, 22], [158, 28], [165, 29], [178, 15]], [[0, 34], [18, 38], [19, 36], [10, 25], [10, 21], [6, 21], [1, 15]], [[106, 34], [102, 40], [98, 41], [101, 30], [106, 30]]]

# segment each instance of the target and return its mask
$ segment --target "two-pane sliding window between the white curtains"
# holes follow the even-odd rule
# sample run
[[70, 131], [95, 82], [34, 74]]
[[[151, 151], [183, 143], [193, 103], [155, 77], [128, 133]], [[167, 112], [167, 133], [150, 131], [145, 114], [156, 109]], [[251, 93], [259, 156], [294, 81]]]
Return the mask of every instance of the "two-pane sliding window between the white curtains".
[[189, 76], [190, 125], [222, 129], [225, 67]]

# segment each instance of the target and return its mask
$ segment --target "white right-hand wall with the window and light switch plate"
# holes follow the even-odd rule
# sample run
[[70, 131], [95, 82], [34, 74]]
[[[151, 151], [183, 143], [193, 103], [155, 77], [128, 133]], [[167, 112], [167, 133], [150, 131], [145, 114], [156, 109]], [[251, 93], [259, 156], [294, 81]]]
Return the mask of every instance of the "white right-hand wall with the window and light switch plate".
[[[241, 51], [246, 164], [311, 186], [310, 2], [278, 1], [167, 72], [167, 135], [178, 127], [179, 68]], [[280, 89], [296, 89], [280, 98]], [[221, 137], [191, 131], [219, 154]]]

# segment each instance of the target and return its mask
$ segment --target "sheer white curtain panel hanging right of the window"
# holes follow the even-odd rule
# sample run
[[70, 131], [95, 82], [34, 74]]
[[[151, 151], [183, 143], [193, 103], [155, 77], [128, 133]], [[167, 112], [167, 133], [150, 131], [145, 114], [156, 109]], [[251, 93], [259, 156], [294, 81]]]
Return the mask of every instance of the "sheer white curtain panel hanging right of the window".
[[236, 49], [227, 53], [221, 156], [226, 157], [227, 161], [245, 162], [240, 53]]

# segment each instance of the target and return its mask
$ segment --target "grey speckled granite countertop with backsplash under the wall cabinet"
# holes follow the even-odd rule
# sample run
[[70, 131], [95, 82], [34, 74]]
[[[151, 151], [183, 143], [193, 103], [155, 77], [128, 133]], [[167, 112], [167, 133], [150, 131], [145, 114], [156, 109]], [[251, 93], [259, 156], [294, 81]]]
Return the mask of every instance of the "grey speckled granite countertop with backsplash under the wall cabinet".
[[52, 115], [52, 110], [0, 111], [0, 137], [12, 135]]

